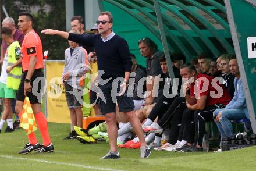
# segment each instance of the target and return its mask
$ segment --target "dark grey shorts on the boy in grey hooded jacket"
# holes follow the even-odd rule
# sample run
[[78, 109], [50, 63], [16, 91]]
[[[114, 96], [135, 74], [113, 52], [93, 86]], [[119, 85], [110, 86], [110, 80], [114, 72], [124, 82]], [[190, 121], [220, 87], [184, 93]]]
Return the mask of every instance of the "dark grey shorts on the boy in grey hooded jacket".
[[[82, 105], [83, 105], [83, 101], [79, 102], [79, 100], [76, 98], [76, 95], [71, 94], [67, 91], [72, 91], [73, 92], [74, 88], [71, 85], [69, 85], [65, 82], [65, 96], [66, 96], [67, 106], [69, 107], [69, 109], [81, 108]], [[81, 90], [77, 90], [77, 91], [81, 91]], [[84, 99], [83, 94], [79, 95], [79, 96], [80, 96], [81, 99]]]

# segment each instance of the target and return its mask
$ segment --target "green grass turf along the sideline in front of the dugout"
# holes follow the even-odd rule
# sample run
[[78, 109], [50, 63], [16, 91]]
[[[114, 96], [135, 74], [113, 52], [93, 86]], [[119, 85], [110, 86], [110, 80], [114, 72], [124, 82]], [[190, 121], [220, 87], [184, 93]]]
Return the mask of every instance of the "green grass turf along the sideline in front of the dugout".
[[[183, 154], [152, 151], [149, 159], [139, 159], [138, 149], [119, 149], [121, 159], [101, 160], [100, 158], [108, 152], [108, 144], [81, 144], [78, 140], [62, 140], [69, 133], [69, 124], [48, 125], [55, 148], [53, 154], [32, 152], [28, 155], [19, 155], [17, 152], [24, 148], [24, 143], [27, 143], [24, 130], [15, 130], [14, 133], [2, 132], [0, 170], [256, 170], [256, 147], [221, 153]], [[6, 125], [3, 131], [5, 127]], [[36, 134], [42, 143], [39, 130]], [[71, 165], [67, 165], [68, 163]]]

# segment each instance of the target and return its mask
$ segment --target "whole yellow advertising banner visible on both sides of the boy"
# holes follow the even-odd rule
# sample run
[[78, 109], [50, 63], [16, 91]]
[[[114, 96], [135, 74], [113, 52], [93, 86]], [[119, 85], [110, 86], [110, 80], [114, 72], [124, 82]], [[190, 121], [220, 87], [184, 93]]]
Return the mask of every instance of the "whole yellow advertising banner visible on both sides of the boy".
[[[63, 66], [64, 60], [45, 60], [48, 122], [70, 123], [70, 114], [65, 97], [65, 87], [61, 79]], [[89, 89], [90, 84], [93, 83], [95, 77], [97, 77], [97, 63], [91, 63], [90, 67], [90, 73], [87, 73], [85, 79], [87, 88]], [[89, 98], [89, 94], [84, 94], [84, 102], [90, 102]], [[82, 111], [84, 116], [95, 115], [93, 108], [83, 107]]]

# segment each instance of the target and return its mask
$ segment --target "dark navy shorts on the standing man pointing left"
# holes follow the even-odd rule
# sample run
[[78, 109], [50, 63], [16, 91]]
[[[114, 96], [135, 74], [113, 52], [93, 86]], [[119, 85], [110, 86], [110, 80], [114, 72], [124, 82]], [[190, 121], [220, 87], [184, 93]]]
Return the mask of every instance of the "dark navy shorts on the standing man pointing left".
[[[116, 104], [115, 101], [113, 102], [111, 96], [111, 89], [112, 89], [112, 82], [106, 83], [105, 85], [99, 85], [99, 89], [103, 92], [104, 98], [106, 99], [106, 104], [103, 101], [103, 98], [99, 98], [99, 109], [101, 110], [102, 115], [106, 113], [116, 112]], [[119, 92], [120, 84], [118, 84]], [[118, 103], [119, 111], [120, 112], [130, 112], [133, 111], [134, 103], [132, 97], [127, 97], [127, 89], [125, 94], [122, 96], [116, 97], [116, 102]]]

